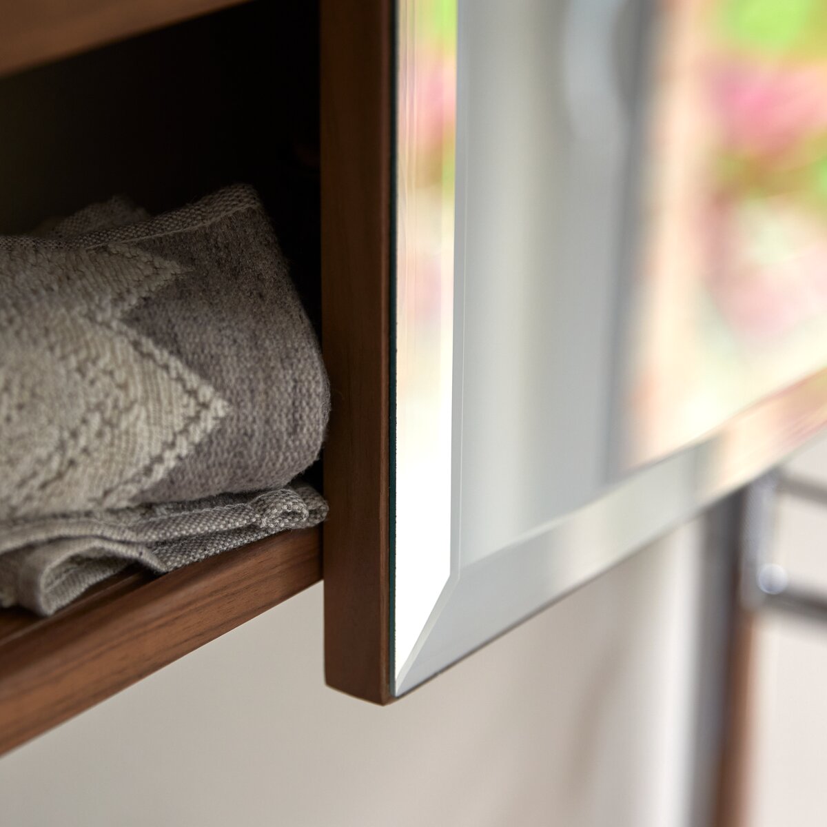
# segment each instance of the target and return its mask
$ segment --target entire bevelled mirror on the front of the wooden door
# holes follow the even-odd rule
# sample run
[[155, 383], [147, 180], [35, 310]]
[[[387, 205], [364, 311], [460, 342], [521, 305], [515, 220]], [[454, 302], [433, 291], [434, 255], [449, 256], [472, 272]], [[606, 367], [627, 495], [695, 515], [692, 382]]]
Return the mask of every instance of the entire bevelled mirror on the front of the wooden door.
[[391, 689], [827, 417], [827, 11], [399, 0]]

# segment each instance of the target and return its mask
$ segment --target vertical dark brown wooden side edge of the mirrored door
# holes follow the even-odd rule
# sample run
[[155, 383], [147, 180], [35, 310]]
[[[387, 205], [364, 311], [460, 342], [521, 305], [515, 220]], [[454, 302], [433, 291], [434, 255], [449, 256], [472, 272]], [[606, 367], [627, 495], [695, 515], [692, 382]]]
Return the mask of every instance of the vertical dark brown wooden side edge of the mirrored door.
[[322, 0], [327, 683], [390, 700], [391, 0]]

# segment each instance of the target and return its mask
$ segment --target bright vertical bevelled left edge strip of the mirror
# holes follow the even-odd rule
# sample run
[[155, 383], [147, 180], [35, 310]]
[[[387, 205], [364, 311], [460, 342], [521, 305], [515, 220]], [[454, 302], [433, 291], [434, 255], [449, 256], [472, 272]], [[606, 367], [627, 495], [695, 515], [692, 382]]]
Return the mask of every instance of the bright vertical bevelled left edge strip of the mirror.
[[[398, 0], [391, 299], [391, 676], [452, 560], [457, 0]], [[427, 498], [423, 492], [428, 492]]]

